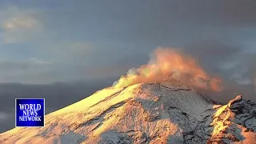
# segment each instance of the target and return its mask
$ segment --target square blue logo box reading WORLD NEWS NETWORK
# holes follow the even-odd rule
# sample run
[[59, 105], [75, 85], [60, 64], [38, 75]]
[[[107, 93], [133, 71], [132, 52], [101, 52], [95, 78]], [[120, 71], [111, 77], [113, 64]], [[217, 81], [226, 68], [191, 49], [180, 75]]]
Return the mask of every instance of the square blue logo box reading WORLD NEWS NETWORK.
[[16, 98], [15, 126], [42, 127], [45, 126], [44, 98]]

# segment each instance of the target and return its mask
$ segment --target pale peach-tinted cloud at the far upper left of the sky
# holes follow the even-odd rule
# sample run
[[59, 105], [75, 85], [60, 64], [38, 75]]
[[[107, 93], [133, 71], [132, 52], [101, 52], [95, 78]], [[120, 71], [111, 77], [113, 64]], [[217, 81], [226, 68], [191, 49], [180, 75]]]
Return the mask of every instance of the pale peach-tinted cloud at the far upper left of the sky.
[[8, 7], [0, 11], [0, 28], [2, 43], [24, 42], [34, 38], [42, 30], [42, 22], [34, 10], [22, 10], [17, 7]]

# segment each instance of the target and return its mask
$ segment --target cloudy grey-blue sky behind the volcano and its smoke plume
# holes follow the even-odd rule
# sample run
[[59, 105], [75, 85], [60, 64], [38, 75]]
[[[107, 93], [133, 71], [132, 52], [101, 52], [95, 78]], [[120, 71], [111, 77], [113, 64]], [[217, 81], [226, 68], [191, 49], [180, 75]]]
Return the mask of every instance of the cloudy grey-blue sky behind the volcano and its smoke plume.
[[[49, 112], [58, 110], [146, 64], [158, 46], [185, 50], [221, 77], [219, 101], [236, 94], [255, 101], [255, 6], [254, 0], [2, 0], [0, 133], [14, 126], [12, 102], [31, 97], [27, 90], [52, 98]], [[65, 89], [69, 102], [58, 99]]]

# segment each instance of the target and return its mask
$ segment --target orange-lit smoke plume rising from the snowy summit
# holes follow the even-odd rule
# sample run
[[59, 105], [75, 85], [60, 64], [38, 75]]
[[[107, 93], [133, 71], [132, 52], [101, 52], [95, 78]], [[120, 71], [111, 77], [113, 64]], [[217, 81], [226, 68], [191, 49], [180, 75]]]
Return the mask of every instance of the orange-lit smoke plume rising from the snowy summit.
[[114, 82], [114, 87], [131, 86], [146, 82], [178, 81], [206, 90], [222, 90], [222, 80], [207, 74], [198, 62], [180, 50], [157, 48], [147, 65], [130, 69]]

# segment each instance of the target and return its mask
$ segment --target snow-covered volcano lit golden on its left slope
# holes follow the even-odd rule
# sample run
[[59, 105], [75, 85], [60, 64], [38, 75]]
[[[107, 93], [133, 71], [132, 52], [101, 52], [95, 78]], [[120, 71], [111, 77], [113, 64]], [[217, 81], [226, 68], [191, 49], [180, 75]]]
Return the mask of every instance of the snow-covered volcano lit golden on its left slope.
[[256, 143], [256, 103], [222, 105], [179, 82], [98, 90], [46, 115], [46, 126], [14, 128], [0, 143]]

